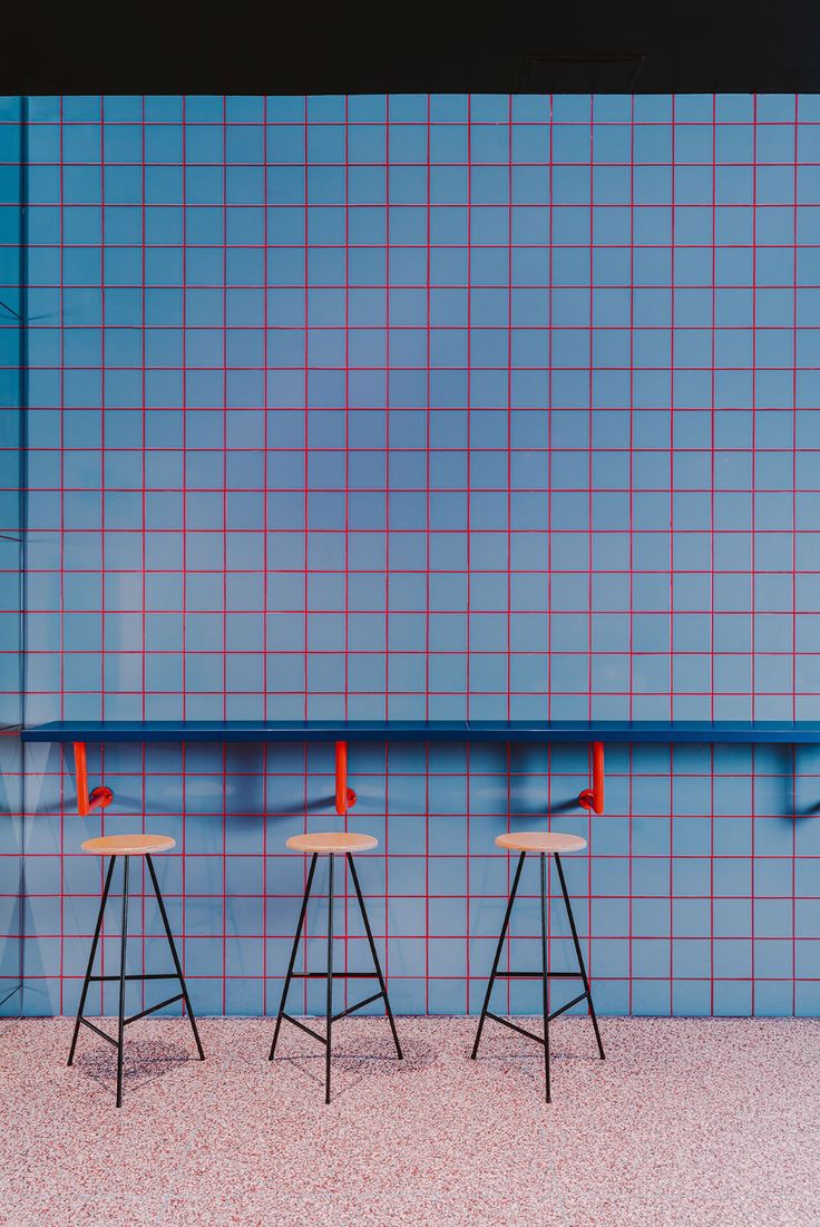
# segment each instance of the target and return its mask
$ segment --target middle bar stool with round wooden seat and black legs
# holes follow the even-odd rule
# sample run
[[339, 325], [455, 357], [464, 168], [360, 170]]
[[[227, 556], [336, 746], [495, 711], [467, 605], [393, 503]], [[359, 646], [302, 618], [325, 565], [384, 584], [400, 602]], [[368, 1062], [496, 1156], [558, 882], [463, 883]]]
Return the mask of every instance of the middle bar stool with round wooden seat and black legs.
[[[324, 1102], [330, 1103], [330, 1045], [331, 1045], [331, 1029], [333, 1023], [339, 1018], [344, 1018], [349, 1014], [354, 1014], [356, 1010], [361, 1010], [362, 1006], [369, 1005], [372, 1001], [378, 1001], [379, 998], [384, 999], [384, 1011], [387, 1014], [388, 1021], [390, 1023], [390, 1031], [393, 1032], [393, 1040], [395, 1043], [395, 1050], [401, 1060], [401, 1045], [399, 1043], [399, 1036], [395, 1029], [395, 1020], [393, 1018], [393, 1011], [390, 1010], [390, 1000], [387, 995], [387, 984], [384, 983], [384, 977], [382, 975], [382, 967], [378, 961], [378, 953], [376, 951], [376, 942], [373, 941], [373, 931], [371, 929], [371, 923], [367, 917], [367, 909], [365, 908], [365, 899], [362, 898], [361, 886], [358, 885], [358, 874], [356, 872], [356, 866], [354, 864], [352, 854], [355, 852], [369, 852], [378, 847], [378, 839], [373, 836], [360, 836], [352, 832], [346, 833], [333, 833], [325, 832], [322, 834], [304, 834], [304, 836], [291, 836], [286, 842], [286, 845], [293, 852], [311, 853], [311, 869], [308, 871], [307, 886], [304, 888], [304, 896], [302, 898], [302, 910], [300, 912], [298, 924], [296, 925], [296, 936], [293, 937], [293, 948], [291, 950], [291, 960], [287, 964], [287, 974], [285, 977], [285, 987], [282, 989], [282, 999], [279, 1005], [279, 1014], [276, 1015], [276, 1028], [274, 1031], [274, 1039], [270, 1045], [270, 1055], [268, 1060], [273, 1061], [274, 1054], [276, 1052], [276, 1044], [279, 1042], [279, 1032], [282, 1025], [282, 1018], [287, 1022], [292, 1022], [295, 1027], [300, 1031], [307, 1032], [308, 1036], [313, 1036], [318, 1039], [320, 1044], [325, 1048], [325, 1066], [324, 1066]], [[358, 899], [358, 908], [362, 914], [362, 920], [365, 923], [365, 933], [367, 934], [367, 942], [371, 948], [371, 957], [373, 960], [373, 972], [334, 972], [333, 969], [333, 880], [334, 880], [334, 860], [336, 856], [345, 856], [347, 865], [350, 866], [350, 874], [354, 880], [354, 886], [356, 887], [356, 898]], [[313, 886], [313, 876], [315, 874], [317, 860], [319, 856], [328, 856], [329, 860], [329, 880], [328, 880], [328, 966], [324, 972], [295, 972], [293, 967], [296, 964], [296, 955], [298, 951], [300, 937], [302, 935], [302, 926], [304, 925], [304, 915], [307, 913], [307, 903], [311, 897], [311, 887]], [[325, 1034], [320, 1036], [317, 1031], [311, 1027], [306, 1027], [303, 1022], [298, 1018], [293, 1018], [290, 1014], [285, 1012], [285, 1002], [287, 1000], [287, 990], [291, 987], [291, 980], [293, 979], [327, 979], [327, 1007], [325, 1007]], [[333, 982], [334, 979], [377, 979], [379, 985], [379, 991], [374, 993], [372, 996], [365, 998], [363, 1001], [357, 1001], [356, 1005], [351, 1005], [347, 1010], [341, 1010], [339, 1014], [333, 1012]]]

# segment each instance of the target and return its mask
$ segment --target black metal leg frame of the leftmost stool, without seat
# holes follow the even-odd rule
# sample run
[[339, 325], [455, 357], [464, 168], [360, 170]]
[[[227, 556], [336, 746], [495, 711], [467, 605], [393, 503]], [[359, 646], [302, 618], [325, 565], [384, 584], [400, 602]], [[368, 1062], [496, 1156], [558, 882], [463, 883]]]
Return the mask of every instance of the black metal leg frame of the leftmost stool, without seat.
[[[171, 931], [171, 925], [168, 923], [168, 914], [166, 912], [164, 901], [162, 898], [162, 892], [160, 891], [160, 883], [157, 881], [157, 875], [153, 869], [153, 863], [150, 855], [146, 855], [146, 861], [149, 865], [149, 872], [151, 875], [151, 882], [153, 885], [153, 892], [160, 906], [160, 914], [162, 917], [162, 924], [166, 931], [166, 937], [168, 940], [168, 947], [171, 950], [171, 957], [173, 960], [174, 971], [173, 972], [157, 972], [157, 973], [133, 973], [128, 974], [125, 971], [126, 966], [126, 952], [128, 952], [128, 899], [129, 899], [129, 869], [130, 869], [130, 856], [123, 858], [123, 914], [122, 914], [122, 926], [120, 926], [120, 956], [119, 956], [119, 972], [115, 975], [92, 975], [95, 958], [97, 955], [97, 947], [99, 945], [99, 934], [102, 931], [103, 917], [106, 913], [106, 904], [108, 902], [108, 896], [110, 893], [112, 877], [114, 875], [114, 863], [117, 856], [110, 858], [108, 865], [108, 874], [106, 875], [106, 885], [103, 887], [102, 899], [99, 902], [99, 912], [97, 913], [97, 923], [95, 925], [95, 935], [91, 941], [91, 952], [88, 955], [88, 966], [86, 967], [85, 979], [82, 982], [82, 991], [80, 993], [80, 1005], [77, 1007], [77, 1017], [74, 1023], [74, 1034], [71, 1037], [71, 1049], [69, 1052], [69, 1065], [74, 1064], [74, 1054], [77, 1047], [77, 1037], [80, 1034], [80, 1027], [85, 1026], [95, 1034], [99, 1036], [101, 1039], [107, 1039], [109, 1044], [113, 1044], [117, 1049], [117, 1107], [123, 1106], [123, 1054], [125, 1049], [125, 1027], [130, 1022], [136, 1022], [137, 1018], [144, 1018], [149, 1014], [155, 1014], [157, 1010], [163, 1010], [167, 1005], [174, 1005], [177, 1001], [183, 1001], [188, 1009], [188, 1016], [190, 1020], [191, 1029], [194, 1032], [194, 1039], [196, 1040], [196, 1049], [199, 1052], [199, 1059], [205, 1060], [205, 1053], [203, 1052], [203, 1045], [199, 1038], [199, 1031], [196, 1029], [196, 1018], [190, 1005], [190, 996], [188, 994], [188, 985], [185, 984], [185, 978], [182, 971], [182, 963], [179, 962], [179, 955], [177, 953], [177, 946], [173, 940], [173, 934]], [[117, 1039], [109, 1036], [108, 1032], [102, 1031], [93, 1022], [83, 1015], [86, 1007], [86, 1000], [88, 998], [88, 988], [91, 984], [101, 984], [103, 982], [115, 982], [119, 987], [118, 1002], [117, 1002]], [[157, 1005], [149, 1006], [146, 1010], [140, 1010], [139, 1014], [131, 1015], [130, 1018], [125, 1017], [125, 985], [129, 980], [177, 980], [179, 983], [180, 993], [176, 996], [168, 998], [166, 1001], [158, 1001]]]

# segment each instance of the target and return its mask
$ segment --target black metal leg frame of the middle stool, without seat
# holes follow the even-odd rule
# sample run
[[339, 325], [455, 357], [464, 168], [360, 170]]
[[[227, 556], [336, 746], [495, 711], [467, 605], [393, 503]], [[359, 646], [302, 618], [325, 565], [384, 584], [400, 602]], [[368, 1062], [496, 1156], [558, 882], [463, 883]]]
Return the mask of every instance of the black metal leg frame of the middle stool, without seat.
[[[399, 1059], [403, 1058], [401, 1045], [399, 1043], [399, 1034], [395, 1028], [395, 1018], [393, 1017], [393, 1010], [390, 1009], [390, 1000], [387, 994], [387, 984], [384, 982], [384, 975], [382, 973], [382, 964], [379, 963], [378, 951], [376, 950], [376, 941], [373, 939], [373, 930], [371, 929], [369, 918], [367, 915], [367, 909], [365, 907], [365, 898], [362, 896], [362, 888], [358, 881], [358, 874], [356, 872], [356, 866], [354, 864], [354, 858], [350, 853], [345, 853], [347, 864], [350, 866], [350, 872], [354, 879], [354, 886], [356, 888], [356, 898], [358, 901], [358, 908], [362, 914], [362, 920], [365, 924], [365, 933], [367, 934], [367, 942], [371, 950], [371, 957], [373, 960], [373, 972], [335, 972], [333, 963], [333, 906], [334, 906], [334, 855], [330, 854], [329, 865], [329, 880], [328, 880], [328, 966], [324, 972], [295, 972], [296, 956], [298, 953], [300, 941], [302, 939], [302, 930], [304, 928], [304, 917], [307, 914], [308, 899], [311, 897], [311, 890], [313, 887], [313, 876], [315, 872], [315, 865], [318, 860], [318, 853], [313, 854], [311, 860], [311, 869], [308, 871], [308, 880], [304, 887], [304, 894], [302, 897], [302, 907], [300, 909], [300, 919], [296, 925], [296, 936], [293, 937], [293, 946], [291, 948], [291, 957], [287, 964], [287, 972], [285, 974], [285, 985], [282, 988], [282, 996], [279, 1005], [279, 1014], [276, 1015], [276, 1026], [274, 1028], [274, 1038], [270, 1045], [270, 1053], [268, 1054], [268, 1060], [273, 1061], [276, 1054], [276, 1047], [279, 1044], [279, 1036], [281, 1032], [282, 1021], [293, 1023], [300, 1031], [304, 1031], [308, 1036], [313, 1036], [320, 1044], [324, 1044], [324, 1102], [330, 1103], [330, 1059], [333, 1055], [333, 1025], [338, 1022], [339, 1018], [345, 1018], [349, 1014], [354, 1014], [356, 1010], [361, 1010], [362, 1006], [369, 1005], [372, 1001], [378, 1001], [379, 998], [384, 1001], [384, 1010], [390, 1023], [390, 1031], [393, 1032], [393, 1040], [395, 1043], [395, 1050]], [[313, 1031], [312, 1027], [307, 1027], [298, 1018], [293, 1018], [285, 1010], [287, 1002], [287, 994], [291, 987], [291, 980], [293, 979], [315, 979], [322, 978], [327, 980], [327, 996], [325, 996], [325, 1033], [320, 1036], [318, 1031]], [[347, 1006], [346, 1010], [341, 1010], [339, 1014], [333, 1012], [333, 982], [334, 979], [377, 979], [379, 985], [379, 991], [373, 993], [371, 996], [365, 998], [363, 1001], [357, 1001], [355, 1005]]]

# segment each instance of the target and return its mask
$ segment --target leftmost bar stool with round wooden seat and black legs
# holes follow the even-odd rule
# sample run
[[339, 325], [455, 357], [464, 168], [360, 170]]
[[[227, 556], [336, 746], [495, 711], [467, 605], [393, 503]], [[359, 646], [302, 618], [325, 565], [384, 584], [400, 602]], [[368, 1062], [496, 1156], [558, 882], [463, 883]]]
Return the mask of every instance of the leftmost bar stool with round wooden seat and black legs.
[[[179, 956], [177, 953], [177, 947], [174, 946], [173, 935], [171, 933], [171, 925], [168, 924], [168, 914], [166, 912], [164, 903], [162, 901], [162, 894], [160, 892], [160, 883], [157, 882], [157, 875], [153, 870], [153, 863], [151, 860], [152, 852], [168, 852], [173, 848], [176, 839], [171, 836], [103, 836], [98, 839], [86, 839], [82, 844], [82, 850], [92, 853], [96, 856], [110, 856], [110, 863], [108, 865], [108, 874], [106, 875], [106, 885], [103, 887], [102, 903], [99, 904], [99, 914], [97, 915], [97, 924], [95, 926], [95, 935], [91, 942], [91, 953], [88, 956], [88, 967], [86, 968], [86, 978], [82, 984], [82, 993], [80, 994], [80, 1006], [77, 1009], [77, 1018], [74, 1025], [74, 1036], [71, 1038], [71, 1052], [69, 1053], [69, 1065], [74, 1064], [74, 1053], [77, 1047], [77, 1036], [80, 1034], [80, 1026], [87, 1027], [93, 1031], [97, 1036], [107, 1039], [109, 1044], [113, 1044], [117, 1049], [117, 1107], [123, 1106], [123, 1048], [124, 1048], [124, 1031], [129, 1022], [136, 1022], [137, 1018], [144, 1018], [147, 1014], [153, 1014], [156, 1010], [162, 1010], [167, 1005], [173, 1005], [176, 1001], [184, 1001], [185, 1009], [188, 1010], [188, 1017], [190, 1018], [190, 1026], [194, 1032], [194, 1039], [196, 1040], [196, 1049], [199, 1052], [200, 1061], [205, 1060], [205, 1053], [203, 1052], [203, 1045], [200, 1043], [199, 1032], [196, 1029], [196, 1018], [194, 1017], [194, 1011], [191, 1009], [190, 998], [188, 996], [188, 987], [185, 979], [182, 974], [182, 964], [179, 962]], [[114, 863], [118, 856], [123, 858], [123, 924], [120, 935], [120, 960], [119, 960], [119, 972], [117, 975], [92, 975], [95, 955], [97, 953], [97, 945], [99, 942], [99, 931], [102, 929], [103, 913], [106, 910], [106, 903], [108, 902], [108, 892], [110, 891], [110, 881], [114, 875]], [[128, 944], [128, 876], [129, 876], [129, 863], [131, 856], [145, 856], [145, 863], [149, 866], [149, 874], [151, 875], [151, 882], [153, 883], [153, 893], [157, 897], [157, 903], [160, 904], [160, 915], [162, 917], [162, 924], [166, 930], [166, 937], [168, 939], [168, 946], [171, 947], [171, 957], [176, 971], [163, 972], [160, 974], [126, 974], [125, 973], [125, 951]], [[93, 1022], [88, 1022], [83, 1017], [83, 1009], [86, 1005], [86, 998], [88, 995], [88, 985], [98, 984], [103, 980], [117, 980], [119, 982], [119, 1010], [118, 1010], [118, 1025], [117, 1025], [117, 1039], [113, 1039], [107, 1032], [101, 1031], [96, 1027]], [[149, 1006], [147, 1010], [141, 1010], [139, 1014], [133, 1014], [130, 1018], [125, 1017], [125, 983], [126, 980], [178, 980], [179, 988], [182, 989], [176, 996], [168, 998], [167, 1001], [160, 1001], [158, 1005]]]

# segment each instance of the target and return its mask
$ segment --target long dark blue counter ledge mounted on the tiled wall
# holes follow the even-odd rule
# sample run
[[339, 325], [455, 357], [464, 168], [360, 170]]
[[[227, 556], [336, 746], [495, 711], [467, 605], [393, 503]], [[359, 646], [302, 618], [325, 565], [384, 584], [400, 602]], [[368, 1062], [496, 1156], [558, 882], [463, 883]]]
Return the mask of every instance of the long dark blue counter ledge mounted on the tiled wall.
[[820, 720], [52, 720], [23, 741], [820, 744]]

